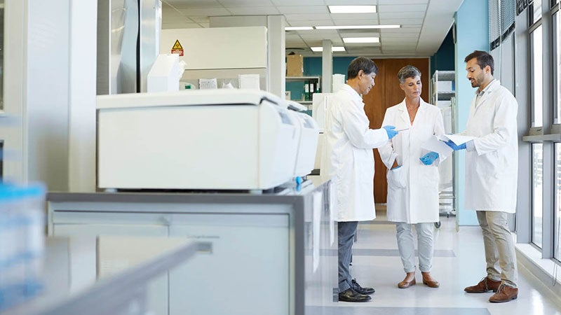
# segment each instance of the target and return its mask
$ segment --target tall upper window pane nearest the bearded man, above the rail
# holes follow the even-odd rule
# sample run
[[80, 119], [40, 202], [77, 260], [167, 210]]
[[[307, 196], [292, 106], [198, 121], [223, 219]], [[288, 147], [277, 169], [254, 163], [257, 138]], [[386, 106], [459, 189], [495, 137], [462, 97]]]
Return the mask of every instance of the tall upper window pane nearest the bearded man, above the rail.
[[532, 32], [532, 127], [543, 126], [541, 25]]

